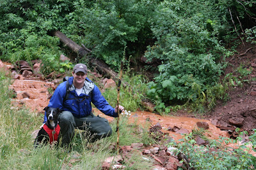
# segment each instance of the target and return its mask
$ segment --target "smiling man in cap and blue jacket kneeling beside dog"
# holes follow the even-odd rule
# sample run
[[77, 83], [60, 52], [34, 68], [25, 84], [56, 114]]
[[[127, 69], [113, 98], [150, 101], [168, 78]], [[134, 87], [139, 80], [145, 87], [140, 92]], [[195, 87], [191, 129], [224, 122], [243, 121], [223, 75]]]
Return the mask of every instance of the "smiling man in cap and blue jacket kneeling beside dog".
[[[118, 117], [117, 110], [124, 111], [123, 106], [114, 109], [100, 93], [99, 88], [87, 78], [87, 67], [76, 64], [68, 82], [61, 83], [49, 102], [49, 107], [63, 110], [59, 115], [62, 146], [69, 145], [74, 136], [74, 129], [88, 129], [95, 139], [110, 136], [112, 129], [106, 118], [96, 117], [92, 113], [91, 102], [105, 115]], [[68, 83], [68, 86], [67, 84]], [[68, 88], [68, 90], [67, 90]], [[67, 92], [66, 92], [67, 91]], [[44, 117], [44, 122], [47, 120]]]

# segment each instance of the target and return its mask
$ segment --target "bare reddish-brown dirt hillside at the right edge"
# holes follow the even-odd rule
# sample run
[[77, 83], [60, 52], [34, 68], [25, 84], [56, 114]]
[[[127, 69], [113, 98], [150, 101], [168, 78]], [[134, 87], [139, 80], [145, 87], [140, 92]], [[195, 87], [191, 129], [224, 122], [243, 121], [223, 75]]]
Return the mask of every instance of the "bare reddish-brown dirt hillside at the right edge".
[[[234, 127], [230, 125], [233, 119], [233, 124], [240, 124], [235, 128], [239, 127], [252, 134], [252, 129], [256, 128], [256, 46], [244, 42], [244, 45], [241, 43], [237, 46], [236, 51], [232, 57], [226, 59], [228, 66], [225, 69], [225, 76], [232, 74], [230, 80], [234, 81], [234, 87], [228, 91], [228, 101], [218, 101], [208, 118], [218, 120], [217, 125], [231, 127], [230, 129]], [[241, 73], [244, 68], [247, 73]]]

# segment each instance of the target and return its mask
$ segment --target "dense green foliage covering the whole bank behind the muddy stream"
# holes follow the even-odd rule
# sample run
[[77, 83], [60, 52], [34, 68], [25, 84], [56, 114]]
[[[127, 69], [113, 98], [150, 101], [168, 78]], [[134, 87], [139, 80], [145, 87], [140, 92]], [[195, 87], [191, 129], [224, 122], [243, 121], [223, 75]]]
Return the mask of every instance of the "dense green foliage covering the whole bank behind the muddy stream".
[[[161, 63], [147, 92], [160, 110], [168, 112], [167, 105], [195, 103], [202, 96], [204, 104], [214, 105], [223, 95], [221, 61], [232, 55], [225, 43], [246, 28], [244, 35], [253, 41], [255, 4], [255, 0], [0, 1], [0, 56], [10, 62], [40, 59], [42, 73], [63, 72], [70, 64], [61, 63], [60, 54], [70, 52], [52, 36], [59, 30], [116, 71], [120, 60], [129, 67], [141, 56]], [[149, 69], [156, 71], [156, 65]]]

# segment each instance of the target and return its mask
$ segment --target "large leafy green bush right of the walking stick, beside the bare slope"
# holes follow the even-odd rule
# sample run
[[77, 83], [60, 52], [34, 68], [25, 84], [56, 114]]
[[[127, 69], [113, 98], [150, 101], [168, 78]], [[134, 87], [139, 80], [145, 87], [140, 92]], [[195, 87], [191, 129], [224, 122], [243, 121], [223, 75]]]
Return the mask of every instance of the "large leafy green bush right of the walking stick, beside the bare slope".
[[148, 96], [165, 104], [195, 102], [199, 97], [195, 84], [200, 93], [218, 85], [223, 66], [216, 61], [227, 53], [218, 40], [227, 24], [221, 12], [208, 1], [164, 1], [157, 6], [150, 18], [157, 41], [148, 46], [145, 57], [162, 64], [159, 76], [148, 83]]

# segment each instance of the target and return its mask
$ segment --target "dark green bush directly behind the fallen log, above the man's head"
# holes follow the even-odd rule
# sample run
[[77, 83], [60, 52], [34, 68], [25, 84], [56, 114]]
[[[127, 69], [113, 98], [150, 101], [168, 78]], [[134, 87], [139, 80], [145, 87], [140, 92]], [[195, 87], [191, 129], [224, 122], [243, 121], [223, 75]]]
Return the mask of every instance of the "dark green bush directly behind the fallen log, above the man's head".
[[[145, 46], [145, 39], [152, 38], [148, 18], [154, 15], [157, 1], [97, 1], [92, 6], [77, 6], [72, 13], [71, 25], [84, 36], [79, 42], [93, 48], [92, 55], [118, 69], [125, 46], [127, 56], [135, 55]], [[66, 32], [74, 31], [70, 27]]]

